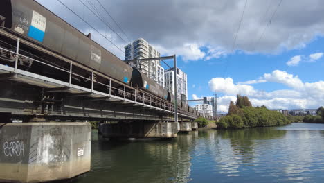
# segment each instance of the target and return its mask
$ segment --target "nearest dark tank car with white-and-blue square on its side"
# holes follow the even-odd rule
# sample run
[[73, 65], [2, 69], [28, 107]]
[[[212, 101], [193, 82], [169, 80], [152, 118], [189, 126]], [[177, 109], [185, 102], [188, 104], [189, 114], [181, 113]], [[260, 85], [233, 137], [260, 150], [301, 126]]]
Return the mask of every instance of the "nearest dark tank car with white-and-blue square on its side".
[[6, 31], [130, 85], [132, 67], [36, 1], [1, 0], [0, 15]]

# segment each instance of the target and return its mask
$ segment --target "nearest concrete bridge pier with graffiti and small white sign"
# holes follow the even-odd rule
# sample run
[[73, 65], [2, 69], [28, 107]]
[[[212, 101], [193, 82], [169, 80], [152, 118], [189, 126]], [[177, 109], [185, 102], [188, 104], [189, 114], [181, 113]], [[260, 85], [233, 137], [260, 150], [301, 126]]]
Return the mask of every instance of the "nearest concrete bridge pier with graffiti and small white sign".
[[68, 179], [90, 166], [89, 123], [0, 123], [0, 182]]

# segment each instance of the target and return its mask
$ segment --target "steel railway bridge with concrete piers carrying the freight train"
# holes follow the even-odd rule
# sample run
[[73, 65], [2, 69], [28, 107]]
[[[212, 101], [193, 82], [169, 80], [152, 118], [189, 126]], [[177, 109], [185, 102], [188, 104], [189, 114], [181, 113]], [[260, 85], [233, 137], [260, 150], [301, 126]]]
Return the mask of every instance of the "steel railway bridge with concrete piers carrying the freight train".
[[[177, 123], [172, 103], [148, 93], [138, 96], [125, 84], [114, 88], [111, 82], [118, 81], [113, 78], [107, 78], [108, 85], [100, 83], [93, 77], [100, 73], [69, 60], [66, 71], [30, 58], [19, 53], [19, 38], [12, 38], [17, 40], [16, 51], [0, 48], [0, 53], [16, 58], [15, 64], [0, 64], [0, 182], [44, 182], [89, 171], [91, 125], [87, 121], [100, 121], [100, 133], [109, 138], [173, 138], [179, 131], [197, 128], [195, 114], [179, 108]], [[56, 69], [67, 80], [28, 71], [17, 58]], [[80, 67], [92, 77], [75, 73], [74, 68]], [[87, 85], [78, 85], [73, 77], [87, 80]]]

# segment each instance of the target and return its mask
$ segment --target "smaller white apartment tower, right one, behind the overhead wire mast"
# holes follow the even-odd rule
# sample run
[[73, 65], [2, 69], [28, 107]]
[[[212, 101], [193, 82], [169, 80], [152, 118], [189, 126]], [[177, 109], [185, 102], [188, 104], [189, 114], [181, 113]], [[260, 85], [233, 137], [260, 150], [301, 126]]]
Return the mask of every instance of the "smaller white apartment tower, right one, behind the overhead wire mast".
[[[165, 88], [174, 94], [174, 68], [165, 70]], [[188, 100], [187, 74], [177, 68], [177, 97]]]

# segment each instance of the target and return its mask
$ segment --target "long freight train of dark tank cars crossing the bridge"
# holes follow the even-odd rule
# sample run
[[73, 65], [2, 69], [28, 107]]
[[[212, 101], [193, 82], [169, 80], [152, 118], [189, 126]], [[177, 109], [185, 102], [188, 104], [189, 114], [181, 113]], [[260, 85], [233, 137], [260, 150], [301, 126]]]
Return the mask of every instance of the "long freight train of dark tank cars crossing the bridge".
[[[72, 77], [73, 83], [87, 87], [90, 83], [89, 79], [93, 78], [93, 80], [96, 80], [94, 89], [102, 92], [107, 92], [105, 86], [110, 85], [113, 88], [111, 92], [117, 96], [132, 99], [138, 96], [136, 101], [149, 103], [151, 102], [149, 96], [153, 94], [156, 98], [159, 98], [159, 101], [165, 101], [162, 103], [155, 100], [159, 107], [174, 103], [174, 96], [167, 89], [91, 40], [90, 34], [84, 35], [34, 0], [1, 0], [0, 26], [0, 31], [15, 35], [21, 40], [31, 43], [21, 44], [19, 46], [20, 53], [27, 55], [28, 58], [42, 60], [48, 65], [62, 69], [62, 71], [57, 71], [53, 67], [46, 67], [46, 65], [35, 62], [33, 59], [22, 57], [19, 57], [19, 69], [67, 80], [68, 76], [63, 70], [69, 71], [70, 63], [66, 60], [73, 60], [73, 62], [83, 66], [73, 68], [75, 73]], [[0, 36], [0, 46], [15, 51], [15, 40], [3, 36], [3, 34]], [[42, 49], [30, 46], [32, 44]], [[61, 57], [48, 54], [48, 51]], [[1, 64], [13, 65], [15, 54], [1, 51], [0, 62]], [[89, 70], [84, 68], [93, 69], [96, 73], [91, 74]], [[105, 76], [113, 78], [117, 82], [109, 83]], [[98, 83], [105, 85], [97, 85]], [[122, 92], [124, 85], [129, 86], [129, 88], [132, 87], [132, 89], [127, 89], [127, 96], [124, 96], [126, 93]], [[199, 112], [181, 101], [178, 103], [178, 108], [179, 112], [183, 114], [201, 116]]]

